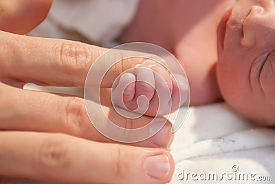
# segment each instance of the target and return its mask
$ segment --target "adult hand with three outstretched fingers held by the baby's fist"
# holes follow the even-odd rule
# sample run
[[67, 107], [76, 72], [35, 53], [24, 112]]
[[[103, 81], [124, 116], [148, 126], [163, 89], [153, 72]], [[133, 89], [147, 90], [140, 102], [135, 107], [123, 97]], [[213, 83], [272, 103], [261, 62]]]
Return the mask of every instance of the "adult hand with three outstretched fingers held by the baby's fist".
[[[0, 32], [0, 41], [0, 175], [76, 183], [169, 181], [174, 163], [168, 152], [110, 144], [113, 141], [89, 122], [83, 99], [10, 86], [32, 82], [83, 87], [89, 67], [106, 49], [7, 32]], [[129, 63], [140, 62], [123, 62], [111, 73], [118, 76]], [[108, 87], [109, 83], [102, 85]], [[122, 127], [135, 128], [152, 119], [142, 116], [129, 121], [115, 114], [113, 108], [104, 110]], [[172, 139], [170, 127], [167, 122], [151, 139], [131, 145], [166, 147]]]

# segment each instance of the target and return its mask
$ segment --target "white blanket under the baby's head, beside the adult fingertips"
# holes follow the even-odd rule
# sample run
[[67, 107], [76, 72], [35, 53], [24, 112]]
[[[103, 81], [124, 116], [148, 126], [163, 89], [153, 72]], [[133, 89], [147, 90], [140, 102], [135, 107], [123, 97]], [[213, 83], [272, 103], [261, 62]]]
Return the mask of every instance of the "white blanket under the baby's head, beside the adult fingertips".
[[275, 181], [275, 131], [248, 121], [226, 103], [190, 108], [170, 150], [176, 163], [170, 183]]

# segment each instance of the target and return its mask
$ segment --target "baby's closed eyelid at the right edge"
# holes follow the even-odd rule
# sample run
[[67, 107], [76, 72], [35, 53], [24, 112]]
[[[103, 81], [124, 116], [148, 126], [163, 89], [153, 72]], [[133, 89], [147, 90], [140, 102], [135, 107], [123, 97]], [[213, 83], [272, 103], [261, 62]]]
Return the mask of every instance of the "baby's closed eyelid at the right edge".
[[270, 52], [263, 64], [260, 73], [260, 83], [265, 94], [274, 96], [275, 99], [275, 51]]

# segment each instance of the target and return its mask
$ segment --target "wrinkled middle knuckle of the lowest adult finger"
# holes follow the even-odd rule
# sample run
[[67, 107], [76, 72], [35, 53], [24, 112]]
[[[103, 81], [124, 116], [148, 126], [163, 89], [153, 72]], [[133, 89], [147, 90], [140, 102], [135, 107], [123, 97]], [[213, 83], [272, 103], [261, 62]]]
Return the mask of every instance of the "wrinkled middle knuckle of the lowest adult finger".
[[55, 134], [43, 140], [37, 156], [37, 163], [41, 170], [51, 172], [52, 170], [66, 169], [72, 165], [72, 146], [63, 134]]

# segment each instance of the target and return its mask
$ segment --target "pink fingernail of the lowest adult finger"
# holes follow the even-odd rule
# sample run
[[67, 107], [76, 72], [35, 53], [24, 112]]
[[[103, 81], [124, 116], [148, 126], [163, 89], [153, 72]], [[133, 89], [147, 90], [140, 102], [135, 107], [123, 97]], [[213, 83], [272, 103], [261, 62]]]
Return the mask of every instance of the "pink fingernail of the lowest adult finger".
[[154, 155], [144, 160], [144, 170], [147, 176], [164, 179], [170, 172], [170, 163], [166, 155]]

